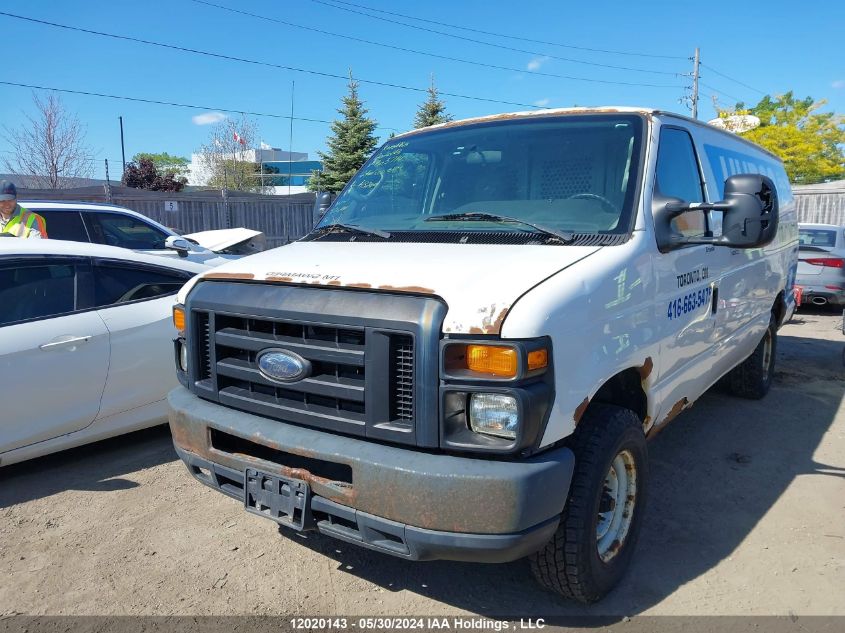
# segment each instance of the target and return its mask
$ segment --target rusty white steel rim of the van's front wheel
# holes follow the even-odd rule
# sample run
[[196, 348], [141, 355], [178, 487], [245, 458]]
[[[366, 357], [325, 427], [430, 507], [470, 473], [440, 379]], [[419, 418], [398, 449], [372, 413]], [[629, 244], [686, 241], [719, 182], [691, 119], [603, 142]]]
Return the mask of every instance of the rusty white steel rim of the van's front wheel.
[[622, 549], [637, 503], [637, 464], [630, 451], [616, 454], [602, 482], [596, 522], [596, 549], [603, 562]]

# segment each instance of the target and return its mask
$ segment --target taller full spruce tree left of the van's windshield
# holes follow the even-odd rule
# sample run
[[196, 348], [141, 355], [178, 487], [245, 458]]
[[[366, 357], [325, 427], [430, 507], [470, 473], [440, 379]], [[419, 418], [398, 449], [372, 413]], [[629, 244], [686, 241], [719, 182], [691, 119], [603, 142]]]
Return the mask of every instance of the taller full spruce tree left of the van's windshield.
[[328, 152], [318, 152], [323, 170], [314, 172], [308, 181], [312, 191], [337, 193], [367, 162], [378, 145], [374, 132], [376, 122], [367, 117], [364, 102], [358, 96], [358, 82], [349, 77], [349, 93], [338, 110], [340, 119], [332, 122], [332, 134], [326, 140]]

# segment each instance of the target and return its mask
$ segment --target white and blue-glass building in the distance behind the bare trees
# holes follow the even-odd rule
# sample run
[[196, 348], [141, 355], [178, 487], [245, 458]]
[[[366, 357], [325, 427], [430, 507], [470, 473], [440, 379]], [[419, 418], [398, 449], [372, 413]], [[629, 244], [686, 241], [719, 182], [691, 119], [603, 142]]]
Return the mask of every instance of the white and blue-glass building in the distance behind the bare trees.
[[[320, 161], [308, 160], [306, 152], [286, 152], [276, 147], [245, 149], [237, 152], [234, 159], [253, 163], [256, 173], [259, 173], [263, 167], [264, 184], [272, 188], [272, 193], [278, 195], [308, 191], [307, 185], [311, 172], [323, 168]], [[191, 162], [188, 164], [188, 185], [206, 186], [210, 176], [202, 155], [191, 154]]]

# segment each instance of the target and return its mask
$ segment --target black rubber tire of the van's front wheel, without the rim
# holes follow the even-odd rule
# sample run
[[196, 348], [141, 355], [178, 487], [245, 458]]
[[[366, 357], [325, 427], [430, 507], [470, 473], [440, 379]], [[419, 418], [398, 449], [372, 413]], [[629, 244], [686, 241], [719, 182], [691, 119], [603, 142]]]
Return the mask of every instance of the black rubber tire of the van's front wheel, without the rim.
[[[648, 492], [648, 449], [642, 422], [633, 411], [601, 403], [592, 404], [586, 411], [569, 447], [575, 453], [569, 496], [555, 535], [531, 555], [531, 571], [545, 588], [565, 598], [590, 603], [607, 594], [630, 564]], [[621, 519], [627, 521], [621, 547], [614, 549], [611, 545], [613, 552], [604, 553], [611, 558], [603, 560], [599, 544], [606, 539], [598, 536], [600, 504], [607, 497], [612, 467], [623, 455], [631, 459], [634, 467], [634, 503], [627, 515], [627, 507], [620, 509], [622, 516], [630, 516]], [[624, 464], [624, 470], [630, 473], [628, 462]], [[615, 509], [610, 512], [615, 516]], [[607, 521], [607, 515], [605, 511], [602, 522]]]

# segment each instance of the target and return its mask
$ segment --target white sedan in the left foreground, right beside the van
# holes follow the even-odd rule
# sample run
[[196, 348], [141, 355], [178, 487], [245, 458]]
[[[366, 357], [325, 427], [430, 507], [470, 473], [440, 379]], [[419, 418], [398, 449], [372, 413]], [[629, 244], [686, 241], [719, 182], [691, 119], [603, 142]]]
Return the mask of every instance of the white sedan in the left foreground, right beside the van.
[[0, 239], [0, 466], [166, 422], [173, 295], [208, 268]]

